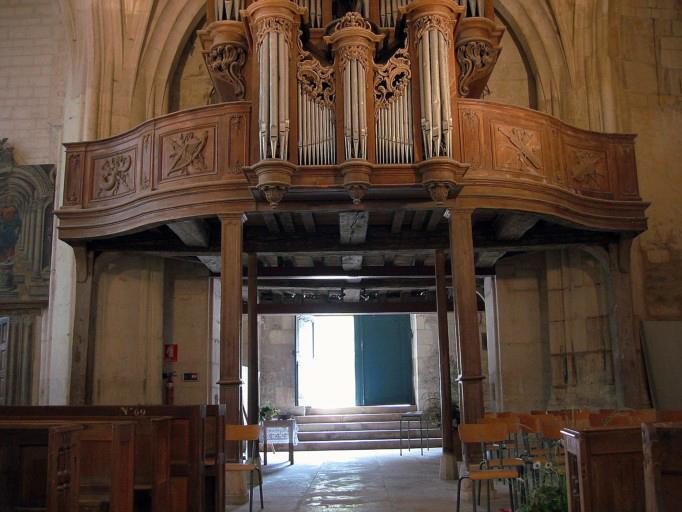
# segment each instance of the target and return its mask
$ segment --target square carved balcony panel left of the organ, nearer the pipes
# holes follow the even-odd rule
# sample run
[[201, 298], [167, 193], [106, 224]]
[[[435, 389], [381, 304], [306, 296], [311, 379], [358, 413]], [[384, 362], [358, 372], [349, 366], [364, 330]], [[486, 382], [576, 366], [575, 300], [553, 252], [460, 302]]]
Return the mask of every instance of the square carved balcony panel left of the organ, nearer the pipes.
[[215, 126], [176, 132], [161, 138], [161, 181], [214, 174]]

